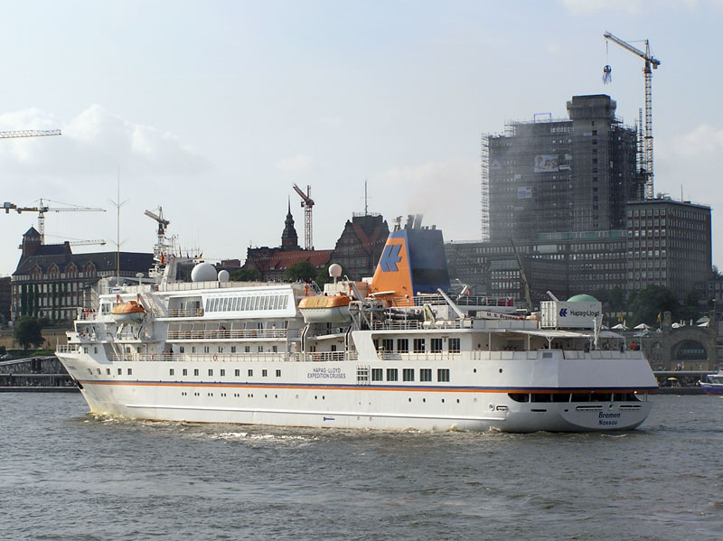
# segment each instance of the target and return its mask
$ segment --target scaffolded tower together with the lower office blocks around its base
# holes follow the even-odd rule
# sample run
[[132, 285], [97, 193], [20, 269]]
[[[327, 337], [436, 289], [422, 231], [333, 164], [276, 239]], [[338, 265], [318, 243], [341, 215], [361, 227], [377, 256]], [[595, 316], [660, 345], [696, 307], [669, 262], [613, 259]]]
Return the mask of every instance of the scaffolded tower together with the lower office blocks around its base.
[[491, 296], [528, 291], [533, 303], [548, 291], [705, 291], [710, 209], [645, 198], [642, 138], [615, 107], [606, 95], [575, 96], [568, 119], [535, 117], [483, 137], [483, 241], [446, 246], [453, 278]]

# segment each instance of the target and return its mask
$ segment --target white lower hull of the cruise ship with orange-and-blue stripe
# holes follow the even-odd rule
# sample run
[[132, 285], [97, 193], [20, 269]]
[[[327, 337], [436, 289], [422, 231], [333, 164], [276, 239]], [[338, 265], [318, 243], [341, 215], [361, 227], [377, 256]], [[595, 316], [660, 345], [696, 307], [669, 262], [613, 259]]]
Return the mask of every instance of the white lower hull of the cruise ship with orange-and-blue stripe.
[[[576, 385], [577, 372], [587, 369], [576, 363], [580, 366], [571, 370], [564, 361], [547, 366], [535, 360], [508, 361], [502, 371], [499, 361], [430, 360], [421, 364], [435, 371], [449, 369], [449, 383], [359, 384], [360, 368], [386, 369], [390, 364], [109, 362], [81, 353], [58, 357], [79, 382], [92, 413], [149, 420], [383, 430], [608, 432], [634, 429], [652, 406], [613, 379], [604, 387], [609, 391], [606, 399], [599, 395], [593, 399], [603, 387]], [[394, 367], [401, 373], [415, 365], [421, 366], [419, 361], [409, 361]], [[536, 378], [548, 382], [546, 387], [531, 385], [529, 374], [534, 372]], [[551, 385], [552, 381], [558, 383]]]

